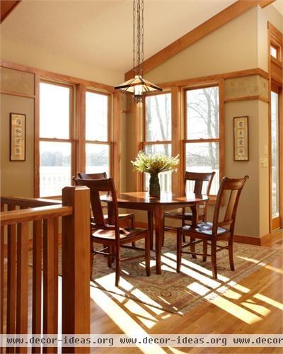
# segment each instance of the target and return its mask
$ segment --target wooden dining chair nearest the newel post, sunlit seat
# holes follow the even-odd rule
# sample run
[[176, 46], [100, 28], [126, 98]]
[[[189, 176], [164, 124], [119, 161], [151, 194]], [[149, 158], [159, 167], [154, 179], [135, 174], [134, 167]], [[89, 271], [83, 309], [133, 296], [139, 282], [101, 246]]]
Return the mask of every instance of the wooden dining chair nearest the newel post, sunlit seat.
[[[119, 285], [120, 263], [136, 258], [144, 258], [146, 275], [150, 275], [150, 239], [148, 229], [134, 229], [132, 227], [120, 227], [118, 215], [117, 195], [112, 178], [107, 179], [82, 179], [74, 178], [77, 185], [86, 185], [91, 190], [91, 208], [93, 211], [94, 224], [91, 227], [91, 269], [93, 268], [93, 255], [102, 254], [108, 256], [108, 265], [111, 267], [115, 259], [115, 285]], [[100, 193], [105, 192], [112, 197], [111, 215], [107, 220], [112, 220], [112, 224], [105, 222], [103, 206], [101, 205]], [[110, 214], [110, 212], [109, 212]], [[144, 239], [145, 248], [127, 246], [133, 242]], [[93, 250], [93, 243], [102, 244], [103, 249]], [[140, 256], [122, 258], [121, 248], [144, 251]]]

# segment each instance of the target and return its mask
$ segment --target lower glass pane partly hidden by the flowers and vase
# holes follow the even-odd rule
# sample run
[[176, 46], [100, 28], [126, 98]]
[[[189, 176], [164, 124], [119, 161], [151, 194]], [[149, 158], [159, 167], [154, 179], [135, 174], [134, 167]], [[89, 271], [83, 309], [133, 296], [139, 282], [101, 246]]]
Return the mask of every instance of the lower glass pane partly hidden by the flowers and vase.
[[[146, 154], [165, 154], [171, 156], [171, 144], [146, 145]], [[172, 172], [158, 173], [161, 192], [171, 192], [172, 190]], [[146, 190], [149, 190], [149, 173], [144, 173], [144, 183]]]

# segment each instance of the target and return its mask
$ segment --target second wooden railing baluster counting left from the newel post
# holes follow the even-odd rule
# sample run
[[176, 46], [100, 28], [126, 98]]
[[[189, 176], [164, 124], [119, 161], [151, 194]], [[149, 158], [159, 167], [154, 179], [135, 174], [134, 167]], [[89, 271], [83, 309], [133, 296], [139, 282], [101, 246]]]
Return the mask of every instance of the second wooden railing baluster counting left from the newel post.
[[[33, 333], [41, 333], [42, 220], [33, 222]], [[40, 348], [33, 348], [38, 353]], [[39, 350], [40, 353], [40, 350]]]

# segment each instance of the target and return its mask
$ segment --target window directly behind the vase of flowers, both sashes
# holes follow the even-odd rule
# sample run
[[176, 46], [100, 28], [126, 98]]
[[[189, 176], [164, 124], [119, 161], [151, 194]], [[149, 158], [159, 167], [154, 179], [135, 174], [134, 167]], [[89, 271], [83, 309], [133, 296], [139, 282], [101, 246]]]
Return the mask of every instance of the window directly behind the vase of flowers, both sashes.
[[[147, 154], [171, 156], [171, 93], [146, 96], [145, 98], [144, 150]], [[171, 172], [159, 174], [161, 190], [171, 192]], [[144, 178], [146, 190], [149, 176]]]

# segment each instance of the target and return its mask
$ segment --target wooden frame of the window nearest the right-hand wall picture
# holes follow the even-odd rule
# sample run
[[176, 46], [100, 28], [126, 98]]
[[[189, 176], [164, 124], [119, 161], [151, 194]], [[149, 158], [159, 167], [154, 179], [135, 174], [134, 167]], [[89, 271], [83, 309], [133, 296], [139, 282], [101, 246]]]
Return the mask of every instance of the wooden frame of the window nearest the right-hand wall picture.
[[[208, 89], [210, 87], [218, 87], [219, 89], [219, 137], [208, 139], [187, 139], [187, 91], [197, 89]], [[195, 84], [193, 86], [186, 86], [183, 88], [183, 110], [184, 110], [184, 139], [182, 140], [182, 159], [183, 159], [183, 178], [186, 171], [186, 144], [188, 143], [208, 143], [216, 142], [219, 144], [219, 185], [224, 176], [224, 80], [206, 82], [205, 84]], [[183, 190], [185, 193], [185, 190]], [[209, 202], [214, 203], [216, 195], [209, 195]]]

